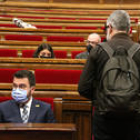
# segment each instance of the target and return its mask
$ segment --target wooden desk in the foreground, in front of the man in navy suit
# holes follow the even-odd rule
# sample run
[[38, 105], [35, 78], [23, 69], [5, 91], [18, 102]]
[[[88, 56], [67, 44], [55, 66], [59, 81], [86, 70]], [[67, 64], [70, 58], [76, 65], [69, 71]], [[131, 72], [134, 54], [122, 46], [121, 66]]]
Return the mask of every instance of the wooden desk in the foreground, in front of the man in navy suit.
[[1, 140], [74, 140], [74, 124], [0, 124]]

